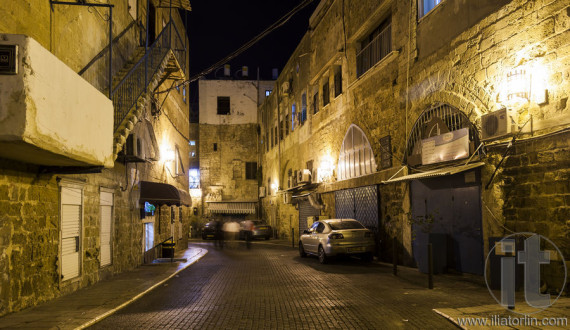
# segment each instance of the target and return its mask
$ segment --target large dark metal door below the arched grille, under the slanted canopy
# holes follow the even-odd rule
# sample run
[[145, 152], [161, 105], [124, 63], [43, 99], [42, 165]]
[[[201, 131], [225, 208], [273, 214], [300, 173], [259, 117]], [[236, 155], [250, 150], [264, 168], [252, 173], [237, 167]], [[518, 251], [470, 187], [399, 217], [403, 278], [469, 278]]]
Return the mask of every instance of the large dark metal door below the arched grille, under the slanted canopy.
[[483, 274], [481, 183], [479, 171], [474, 172], [471, 183], [465, 183], [466, 173], [411, 182], [412, 247], [420, 270], [427, 271], [430, 235], [439, 235], [445, 244], [440, 251], [434, 245], [434, 260], [443, 268]]

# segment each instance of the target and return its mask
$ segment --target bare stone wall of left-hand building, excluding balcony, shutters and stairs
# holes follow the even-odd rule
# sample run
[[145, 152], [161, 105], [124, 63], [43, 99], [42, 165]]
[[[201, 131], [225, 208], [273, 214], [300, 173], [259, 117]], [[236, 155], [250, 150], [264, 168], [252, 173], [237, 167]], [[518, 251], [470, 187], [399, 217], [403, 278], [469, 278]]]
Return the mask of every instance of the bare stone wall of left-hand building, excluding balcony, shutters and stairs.
[[[115, 5], [115, 75], [128, 61], [133, 60], [135, 49], [141, 40], [140, 30], [129, 14], [128, 2], [110, 2]], [[146, 25], [146, 2], [138, 3], [140, 8], [137, 17]], [[104, 8], [54, 5], [54, 10], [51, 11], [49, 1], [9, 0], [0, 2], [0, 12], [4, 13], [0, 20], [0, 38], [3, 33], [29, 35], [75, 72], [85, 68], [108, 44], [108, 21], [105, 20], [108, 11]], [[179, 32], [185, 38], [178, 11], [173, 12]], [[168, 20], [168, 9], [157, 10], [157, 28], [162, 27], [162, 18]], [[82, 77], [107, 95], [108, 66], [105, 56], [95, 60], [95, 64]], [[187, 72], [185, 76], [187, 77]], [[78, 76], [78, 79], [81, 78]], [[172, 81], [167, 80], [158, 91], [166, 91], [171, 84]], [[188, 90], [186, 92], [189, 96]], [[184, 101], [182, 89], [162, 93], [158, 99], [156, 107], [148, 101], [141, 102], [144, 108], [138, 118], [141, 121], [133, 127], [133, 132], [144, 131], [143, 119], [153, 127], [157, 148], [152, 146], [149, 136], [145, 135], [143, 145], [148, 156], [145, 162], [125, 164], [116, 161], [113, 168], [98, 172], [89, 168], [82, 171], [50, 169], [0, 159], [0, 206], [3, 209], [0, 215], [0, 315], [84, 288], [114, 274], [132, 270], [142, 263], [143, 225], [140, 217], [139, 181], [162, 182], [182, 190], [188, 189], [190, 129], [187, 100]], [[160, 157], [165, 155], [166, 149], [176, 147], [185, 172], [177, 171], [174, 162]], [[62, 180], [72, 180], [84, 187], [81, 274], [68, 281], [60, 278], [59, 183]], [[112, 264], [106, 267], [100, 266], [101, 189], [114, 194]], [[154, 242], [158, 244], [174, 235], [176, 247], [180, 250], [187, 246], [191, 208], [182, 207], [182, 219], [178, 207], [174, 209], [175, 222], [171, 227], [170, 208], [161, 208], [160, 216], [156, 217]]]

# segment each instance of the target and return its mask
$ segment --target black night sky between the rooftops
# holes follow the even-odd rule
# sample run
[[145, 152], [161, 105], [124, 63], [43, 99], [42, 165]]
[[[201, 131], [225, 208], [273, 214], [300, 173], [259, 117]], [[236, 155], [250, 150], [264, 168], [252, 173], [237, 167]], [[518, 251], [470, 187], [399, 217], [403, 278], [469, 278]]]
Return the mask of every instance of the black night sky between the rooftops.
[[[210, 67], [279, 20], [303, 0], [192, 0], [188, 13], [190, 75]], [[279, 72], [309, 26], [309, 17], [319, 0], [299, 11], [285, 25], [271, 32], [229, 62], [232, 75], [243, 65], [250, 79], [271, 79], [271, 69]], [[223, 75], [219, 70], [217, 76]], [[207, 76], [213, 78], [213, 74]]]

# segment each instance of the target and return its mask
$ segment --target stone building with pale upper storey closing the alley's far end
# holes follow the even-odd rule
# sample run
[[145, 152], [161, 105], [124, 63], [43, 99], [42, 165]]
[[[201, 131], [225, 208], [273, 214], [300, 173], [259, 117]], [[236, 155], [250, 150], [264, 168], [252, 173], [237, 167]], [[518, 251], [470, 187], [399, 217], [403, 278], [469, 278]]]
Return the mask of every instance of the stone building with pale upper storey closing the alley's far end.
[[258, 216], [257, 106], [273, 81], [201, 79], [198, 163], [204, 220]]

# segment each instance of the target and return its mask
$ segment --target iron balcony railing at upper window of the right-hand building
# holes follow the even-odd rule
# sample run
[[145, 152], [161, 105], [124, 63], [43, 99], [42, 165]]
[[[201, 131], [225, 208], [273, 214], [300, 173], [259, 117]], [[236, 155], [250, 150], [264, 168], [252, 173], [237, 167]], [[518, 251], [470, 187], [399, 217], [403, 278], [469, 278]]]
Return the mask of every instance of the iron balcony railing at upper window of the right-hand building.
[[392, 25], [388, 25], [356, 55], [356, 75], [360, 77], [392, 51]]

